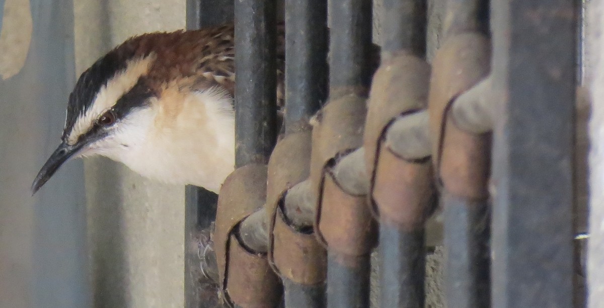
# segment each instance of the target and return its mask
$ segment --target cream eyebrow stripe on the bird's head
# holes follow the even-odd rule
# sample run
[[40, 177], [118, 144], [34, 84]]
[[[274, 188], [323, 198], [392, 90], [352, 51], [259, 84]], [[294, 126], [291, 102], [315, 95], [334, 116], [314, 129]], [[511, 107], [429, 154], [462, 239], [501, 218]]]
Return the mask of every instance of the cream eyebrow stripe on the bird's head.
[[151, 65], [155, 60], [155, 54], [150, 54], [147, 57], [141, 57], [134, 60], [129, 60], [126, 69], [118, 72], [112, 77], [107, 85], [103, 86], [97, 93], [92, 105], [79, 115], [67, 138], [68, 144], [75, 144], [77, 139], [83, 133], [88, 132], [92, 124], [100, 117], [101, 114], [115, 106], [117, 100], [127, 91], [133, 88], [138, 82], [138, 79], [149, 72]]

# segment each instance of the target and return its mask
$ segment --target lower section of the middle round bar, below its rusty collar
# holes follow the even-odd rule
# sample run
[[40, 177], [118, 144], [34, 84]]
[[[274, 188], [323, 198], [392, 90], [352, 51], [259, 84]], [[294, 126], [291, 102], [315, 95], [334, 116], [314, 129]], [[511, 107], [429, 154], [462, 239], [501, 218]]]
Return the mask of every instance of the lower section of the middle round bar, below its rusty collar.
[[352, 257], [327, 251], [327, 307], [369, 307], [371, 255]]

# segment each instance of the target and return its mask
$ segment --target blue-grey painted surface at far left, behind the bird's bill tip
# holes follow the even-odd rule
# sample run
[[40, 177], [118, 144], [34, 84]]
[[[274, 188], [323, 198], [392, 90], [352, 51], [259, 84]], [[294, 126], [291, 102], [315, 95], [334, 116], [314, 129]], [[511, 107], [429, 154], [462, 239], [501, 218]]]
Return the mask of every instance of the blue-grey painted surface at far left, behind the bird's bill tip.
[[31, 13], [25, 66], [0, 82], [0, 307], [86, 307], [82, 162], [29, 191], [59, 144], [74, 82], [72, 2], [31, 0]]

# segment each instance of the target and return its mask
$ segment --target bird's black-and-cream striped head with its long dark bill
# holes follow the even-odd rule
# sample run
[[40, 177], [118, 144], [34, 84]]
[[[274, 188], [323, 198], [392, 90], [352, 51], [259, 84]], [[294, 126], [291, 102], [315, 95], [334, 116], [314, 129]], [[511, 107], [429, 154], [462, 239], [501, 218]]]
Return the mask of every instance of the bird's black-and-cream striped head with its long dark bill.
[[156, 95], [147, 76], [155, 58], [134, 44], [122, 45], [82, 73], [69, 95], [61, 143], [40, 169], [32, 193], [68, 159], [115, 156], [144, 137]]

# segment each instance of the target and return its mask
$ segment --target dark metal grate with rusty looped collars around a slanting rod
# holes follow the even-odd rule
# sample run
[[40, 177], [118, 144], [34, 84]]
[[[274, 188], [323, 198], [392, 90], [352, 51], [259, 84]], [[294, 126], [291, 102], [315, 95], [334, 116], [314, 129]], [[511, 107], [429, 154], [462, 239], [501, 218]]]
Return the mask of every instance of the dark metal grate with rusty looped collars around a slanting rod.
[[226, 306], [369, 307], [377, 246], [381, 306], [422, 307], [438, 206], [448, 307], [572, 307], [576, 4], [448, 0], [431, 65], [425, 0], [383, 1], [381, 51], [370, 0], [327, 7], [285, 0], [279, 130], [277, 3], [188, 1], [190, 28], [234, 16], [237, 169], [185, 271]]

